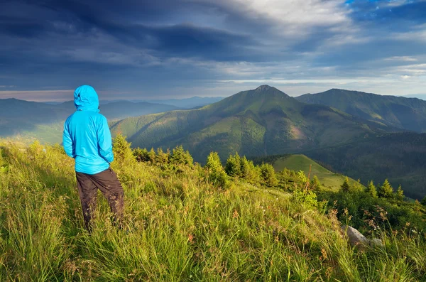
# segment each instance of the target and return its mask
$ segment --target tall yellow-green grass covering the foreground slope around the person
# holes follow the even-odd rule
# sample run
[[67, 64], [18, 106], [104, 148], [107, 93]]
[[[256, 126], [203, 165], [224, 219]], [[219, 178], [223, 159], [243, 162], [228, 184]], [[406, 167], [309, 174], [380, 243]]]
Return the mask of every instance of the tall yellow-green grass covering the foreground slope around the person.
[[1, 143], [0, 281], [426, 281], [425, 234], [381, 233], [383, 249], [359, 251], [332, 212], [289, 193], [219, 190], [197, 166], [113, 168], [124, 228], [100, 200], [88, 234], [62, 148]]

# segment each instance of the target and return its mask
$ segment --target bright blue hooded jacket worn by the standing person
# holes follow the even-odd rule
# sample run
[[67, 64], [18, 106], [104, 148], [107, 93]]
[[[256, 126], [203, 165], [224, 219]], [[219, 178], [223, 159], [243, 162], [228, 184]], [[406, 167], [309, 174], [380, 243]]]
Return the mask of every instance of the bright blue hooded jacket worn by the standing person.
[[97, 92], [89, 85], [75, 90], [74, 104], [77, 112], [70, 115], [64, 124], [65, 152], [75, 158], [75, 171], [100, 173], [114, 160], [107, 118], [99, 114]]

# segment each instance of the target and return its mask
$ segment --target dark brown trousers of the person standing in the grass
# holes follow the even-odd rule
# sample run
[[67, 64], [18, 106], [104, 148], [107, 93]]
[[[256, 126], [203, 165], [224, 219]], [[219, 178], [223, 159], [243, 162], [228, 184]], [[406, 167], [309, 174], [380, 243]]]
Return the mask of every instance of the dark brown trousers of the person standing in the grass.
[[75, 173], [77, 177], [77, 188], [82, 210], [84, 224], [86, 229], [92, 231], [92, 217], [96, 209], [97, 190], [101, 190], [104, 197], [108, 200], [111, 213], [114, 215], [113, 222], [118, 222], [121, 226], [124, 208], [124, 190], [119, 178], [111, 168], [97, 174]]

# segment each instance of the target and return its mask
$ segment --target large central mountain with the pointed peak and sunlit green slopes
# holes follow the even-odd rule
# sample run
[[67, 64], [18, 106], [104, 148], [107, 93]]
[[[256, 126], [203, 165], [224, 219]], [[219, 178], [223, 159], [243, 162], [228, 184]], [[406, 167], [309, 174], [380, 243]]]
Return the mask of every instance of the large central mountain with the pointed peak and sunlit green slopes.
[[204, 161], [210, 151], [218, 151], [222, 159], [236, 151], [246, 156], [294, 153], [393, 128], [324, 105], [305, 104], [262, 85], [201, 109], [124, 119], [111, 131], [142, 148], [182, 144], [196, 161]]

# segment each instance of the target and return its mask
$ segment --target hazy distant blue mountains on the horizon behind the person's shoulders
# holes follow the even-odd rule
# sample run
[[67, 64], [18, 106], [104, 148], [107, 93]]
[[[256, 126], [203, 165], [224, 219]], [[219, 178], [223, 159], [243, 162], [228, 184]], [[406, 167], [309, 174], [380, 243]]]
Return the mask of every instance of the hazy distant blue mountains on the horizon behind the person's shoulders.
[[[0, 99], [0, 137], [17, 134], [40, 141], [60, 142], [62, 124], [75, 112], [74, 102], [46, 104], [19, 99]], [[112, 102], [101, 105], [101, 114], [111, 121], [180, 109], [166, 104], [147, 102]]]

